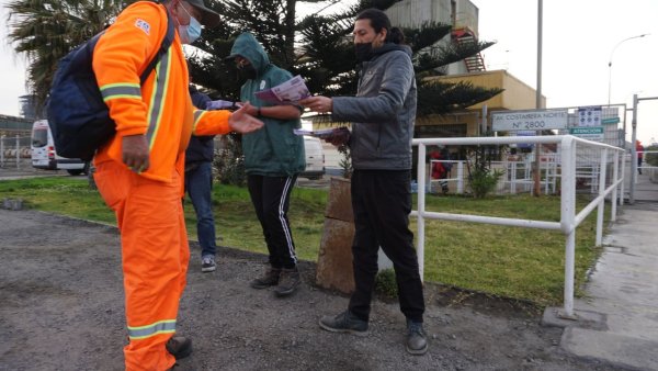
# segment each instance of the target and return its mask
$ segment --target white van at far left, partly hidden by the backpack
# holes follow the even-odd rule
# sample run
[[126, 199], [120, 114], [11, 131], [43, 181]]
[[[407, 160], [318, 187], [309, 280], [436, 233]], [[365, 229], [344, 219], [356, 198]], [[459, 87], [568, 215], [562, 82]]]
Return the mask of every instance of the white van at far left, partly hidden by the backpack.
[[87, 172], [89, 162], [79, 158], [57, 156], [48, 121], [38, 120], [32, 125], [32, 167], [46, 170], [66, 170], [71, 176], [78, 176]]

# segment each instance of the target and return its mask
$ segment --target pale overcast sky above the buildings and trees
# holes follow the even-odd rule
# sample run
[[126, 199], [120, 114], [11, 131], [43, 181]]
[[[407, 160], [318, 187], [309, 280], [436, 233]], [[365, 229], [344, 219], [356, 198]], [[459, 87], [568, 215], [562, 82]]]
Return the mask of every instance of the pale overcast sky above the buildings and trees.
[[[472, 1], [479, 8], [480, 40], [497, 42], [483, 53], [487, 69], [507, 69], [535, 88], [537, 1]], [[0, 113], [18, 115], [25, 64], [7, 45], [7, 2], [0, 0]], [[341, 5], [329, 10], [336, 7]], [[548, 108], [604, 105], [609, 81], [612, 103], [631, 108], [634, 93], [658, 97], [658, 0], [546, 0], [543, 21], [542, 92]], [[649, 35], [619, 44], [640, 34]], [[658, 100], [640, 102], [638, 138], [658, 140]]]

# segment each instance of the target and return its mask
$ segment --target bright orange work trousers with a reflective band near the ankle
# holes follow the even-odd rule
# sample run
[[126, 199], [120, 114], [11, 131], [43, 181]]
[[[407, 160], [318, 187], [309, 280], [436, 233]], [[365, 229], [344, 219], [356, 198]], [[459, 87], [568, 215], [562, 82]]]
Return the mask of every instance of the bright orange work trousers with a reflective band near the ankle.
[[[121, 165], [117, 165], [121, 166]], [[189, 261], [178, 173], [171, 182], [125, 169], [116, 187], [127, 187], [122, 220], [122, 259], [131, 344], [127, 370], [164, 370], [175, 362], [164, 342], [175, 331], [179, 301]]]

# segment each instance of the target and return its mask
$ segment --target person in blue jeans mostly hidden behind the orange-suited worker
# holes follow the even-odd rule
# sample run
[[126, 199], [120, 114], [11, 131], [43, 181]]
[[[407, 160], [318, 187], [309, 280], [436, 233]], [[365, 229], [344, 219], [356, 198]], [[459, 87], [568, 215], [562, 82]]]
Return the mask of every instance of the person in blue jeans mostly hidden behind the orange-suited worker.
[[[190, 85], [192, 104], [205, 110], [211, 98]], [[216, 268], [215, 217], [211, 192], [213, 190], [214, 135], [194, 136], [185, 150], [185, 191], [196, 212], [196, 237], [201, 245], [201, 271], [212, 272]]]

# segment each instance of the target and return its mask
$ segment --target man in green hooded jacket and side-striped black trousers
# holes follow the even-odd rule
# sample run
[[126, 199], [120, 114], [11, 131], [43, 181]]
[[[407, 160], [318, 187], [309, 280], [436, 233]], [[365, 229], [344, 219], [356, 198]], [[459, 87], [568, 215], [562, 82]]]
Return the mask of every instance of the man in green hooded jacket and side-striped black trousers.
[[264, 274], [251, 281], [254, 289], [276, 286], [276, 296], [287, 296], [299, 285], [297, 256], [287, 218], [290, 195], [306, 167], [304, 138], [293, 133], [302, 126], [302, 108], [273, 105], [259, 100], [257, 91], [270, 89], [293, 76], [270, 63], [262, 45], [250, 33], [236, 40], [229, 58], [246, 79], [240, 100], [249, 101], [249, 114], [262, 120], [263, 130], [242, 136], [247, 186], [270, 252]]

